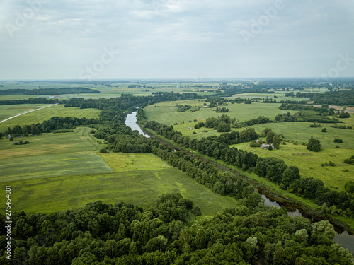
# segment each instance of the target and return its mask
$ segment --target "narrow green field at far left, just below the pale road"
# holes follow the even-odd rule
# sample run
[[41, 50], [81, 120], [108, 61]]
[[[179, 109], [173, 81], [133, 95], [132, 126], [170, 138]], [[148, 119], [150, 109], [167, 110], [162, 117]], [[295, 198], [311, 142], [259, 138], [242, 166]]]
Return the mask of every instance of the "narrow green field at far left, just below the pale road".
[[[9, 105], [5, 105], [9, 106]], [[5, 107], [0, 106], [0, 107]], [[11, 105], [18, 106], [18, 105]], [[24, 105], [19, 105], [24, 106]], [[11, 109], [13, 113], [18, 112], [16, 109]], [[11, 111], [8, 111], [8, 115], [10, 115]], [[98, 109], [80, 109], [79, 107], [64, 107], [64, 105], [55, 105], [52, 107], [46, 107], [42, 110], [36, 110], [35, 112], [30, 112], [23, 114], [21, 116], [15, 117], [13, 119], [9, 119], [6, 122], [0, 123], [0, 131], [4, 131], [8, 127], [13, 128], [15, 125], [30, 125], [37, 124], [43, 122], [45, 120], [50, 119], [51, 117], [86, 117], [87, 119], [98, 118], [101, 110]], [[14, 116], [11, 115], [11, 116]]]

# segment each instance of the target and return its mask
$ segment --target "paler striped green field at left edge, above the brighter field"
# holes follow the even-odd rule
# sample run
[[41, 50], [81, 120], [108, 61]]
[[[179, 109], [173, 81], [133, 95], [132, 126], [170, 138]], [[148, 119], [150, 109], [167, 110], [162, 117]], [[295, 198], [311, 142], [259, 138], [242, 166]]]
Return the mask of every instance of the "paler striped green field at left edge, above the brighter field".
[[1, 140], [0, 182], [113, 172], [96, 154], [101, 146], [89, 136], [89, 131], [90, 128], [79, 127], [74, 133], [30, 136], [25, 138], [30, 144], [21, 146]]

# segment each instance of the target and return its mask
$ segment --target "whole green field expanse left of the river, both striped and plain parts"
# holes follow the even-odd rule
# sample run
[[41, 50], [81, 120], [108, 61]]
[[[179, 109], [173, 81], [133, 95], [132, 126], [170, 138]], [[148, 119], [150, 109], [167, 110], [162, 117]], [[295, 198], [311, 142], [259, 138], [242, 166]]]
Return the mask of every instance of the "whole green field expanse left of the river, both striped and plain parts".
[[[15, 146], [0, 141], [0, 182], [11, 186], [11, 210], [49, 213], [92, 201], [154, 207], [161, 194], [180, 192], [212, 215], [235, 205], [152, 154], [96, 153], [89, 128], [42, 134]], [[1, 212], [4, 210], [1, 210]]]

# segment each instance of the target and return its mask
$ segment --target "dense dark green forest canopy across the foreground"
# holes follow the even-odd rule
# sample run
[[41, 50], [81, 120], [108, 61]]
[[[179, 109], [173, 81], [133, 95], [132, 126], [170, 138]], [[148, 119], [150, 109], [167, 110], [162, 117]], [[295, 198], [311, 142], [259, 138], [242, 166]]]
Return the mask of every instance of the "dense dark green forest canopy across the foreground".
[[[247, 200], [247, 199], [246, 199]], [[258, 257], [267, 264], [350, 265], [348, 249], [334, 244], [328, 221], [311, 225], [284, 208], [240, 199], [234, 208], [187, 225], [193, 201], [163, 194], [154, 208], [103, 204], [56, 213], [13, 213], [13, 257], [5, 258], [6, 228], [0, 220], [2, 264], [239, 264]], [[197, 213], [198, 214], [198, 213]]]

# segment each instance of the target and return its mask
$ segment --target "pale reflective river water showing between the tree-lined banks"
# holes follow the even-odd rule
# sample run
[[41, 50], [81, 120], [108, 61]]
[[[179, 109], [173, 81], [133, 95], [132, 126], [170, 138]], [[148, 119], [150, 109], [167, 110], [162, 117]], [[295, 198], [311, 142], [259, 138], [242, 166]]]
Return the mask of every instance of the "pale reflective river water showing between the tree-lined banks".
[[[144, 131], [142, 131], [139, 124], [137, 123], [137, 111], [127, 115], [127, 119], [125, 119], [125, 125], [129, 126], [132, 131], [137, 130], [139, 131], [139, 134], [142, 134], [145, 137], [150, 137], [147, 134], [144, 134]], [[270, 200], [264, 194], [262, 195], [262, 198], [264, 199], [264, 204], [266, 206], [280, 208], [280, 204], [278, 204], [278, 202]], [[287, 215], [291, 216], [292, 218], [295, 218], [295, 216], [302, 216], [304, 218], [308, 218], [312, 222], [314, 221], [311, 216], [303, 216], [298, 209], [295, 211], [287, 210]], [[340, 245], [341, 247], [349, 249], [350, 253], [354, 254], [354, 235], [349, 235], [347, 231], [337, 232], [338, 233], [336, 237], [334, 237], [334, 242], [336, 242], [336, 244]]]

